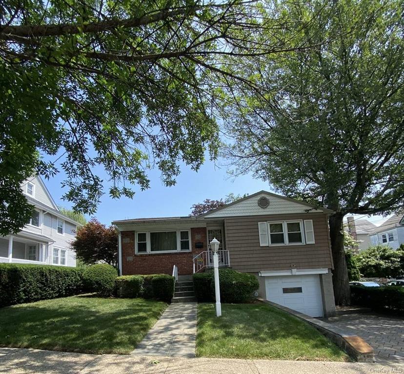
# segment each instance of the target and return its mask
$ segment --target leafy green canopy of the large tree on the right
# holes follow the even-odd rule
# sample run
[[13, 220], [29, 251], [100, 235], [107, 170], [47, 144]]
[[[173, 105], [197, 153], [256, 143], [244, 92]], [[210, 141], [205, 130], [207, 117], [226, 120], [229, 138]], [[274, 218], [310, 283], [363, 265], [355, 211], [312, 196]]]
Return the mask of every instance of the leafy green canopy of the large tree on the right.
[[[234, 93], [224, 152], [288, 196], [345, 213], [404, 205], [404, 38], [396, 0], [281, 2], [312, 19], [310, 53], [247, 65], [267, 89]], [[290, 31], [296, 35], [294, 31]], [[322, 43], [323, 39], [329, 40]], [[241, 109], [241, 110], [240, 110]]]

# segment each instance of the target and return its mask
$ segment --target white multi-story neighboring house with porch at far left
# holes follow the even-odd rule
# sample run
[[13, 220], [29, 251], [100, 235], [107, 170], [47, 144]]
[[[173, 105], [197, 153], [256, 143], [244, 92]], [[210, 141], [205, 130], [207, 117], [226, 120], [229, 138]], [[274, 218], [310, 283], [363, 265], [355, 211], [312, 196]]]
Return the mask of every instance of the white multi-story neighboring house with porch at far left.
[[80, 224], [61, 214], [39, 176], [21, 188], [35, 211], [18, 234], [0, 237], [0, 262], [76, 266], [69, 243]]

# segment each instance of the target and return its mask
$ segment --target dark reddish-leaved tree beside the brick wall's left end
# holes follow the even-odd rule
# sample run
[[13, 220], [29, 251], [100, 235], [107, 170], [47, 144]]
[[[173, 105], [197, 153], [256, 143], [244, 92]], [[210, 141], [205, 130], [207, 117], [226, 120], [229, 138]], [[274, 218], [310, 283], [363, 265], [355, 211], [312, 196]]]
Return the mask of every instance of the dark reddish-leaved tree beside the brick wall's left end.
[[96, 218], [77, 230], [76, 239], [70, 245], [84, 264], [105, 262], [117, 266], [118, 233], [115, 227], [106, 227]]

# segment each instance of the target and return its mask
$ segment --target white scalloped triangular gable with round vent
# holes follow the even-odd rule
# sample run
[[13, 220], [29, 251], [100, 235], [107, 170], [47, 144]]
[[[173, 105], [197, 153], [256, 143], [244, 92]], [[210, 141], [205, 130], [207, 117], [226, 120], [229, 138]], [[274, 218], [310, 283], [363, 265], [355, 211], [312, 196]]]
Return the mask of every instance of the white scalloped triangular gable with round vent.
[[[269, 205], [262, 204], [262, 198], [266, 198]], [[256, 216], [272, 214], [290, 214], [290, 213], [333, 213], [332, 210], [324, 209], [318, 206], [307, 204], [295, 199], [289, 199], [282, 195], [277, 195], [268, 191], [260, 191], [234, 203], [222, 206], [212, 210], [199, 217], [220, 218], [235, 216]]]

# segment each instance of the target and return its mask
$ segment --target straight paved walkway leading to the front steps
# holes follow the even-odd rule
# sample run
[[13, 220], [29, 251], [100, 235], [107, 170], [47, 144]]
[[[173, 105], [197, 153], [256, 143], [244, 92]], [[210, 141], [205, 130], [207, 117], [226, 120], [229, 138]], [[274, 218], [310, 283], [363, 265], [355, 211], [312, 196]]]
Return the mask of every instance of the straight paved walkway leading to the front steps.
[[170, 304], [132, 355], [195, 357], [197, 303]]

